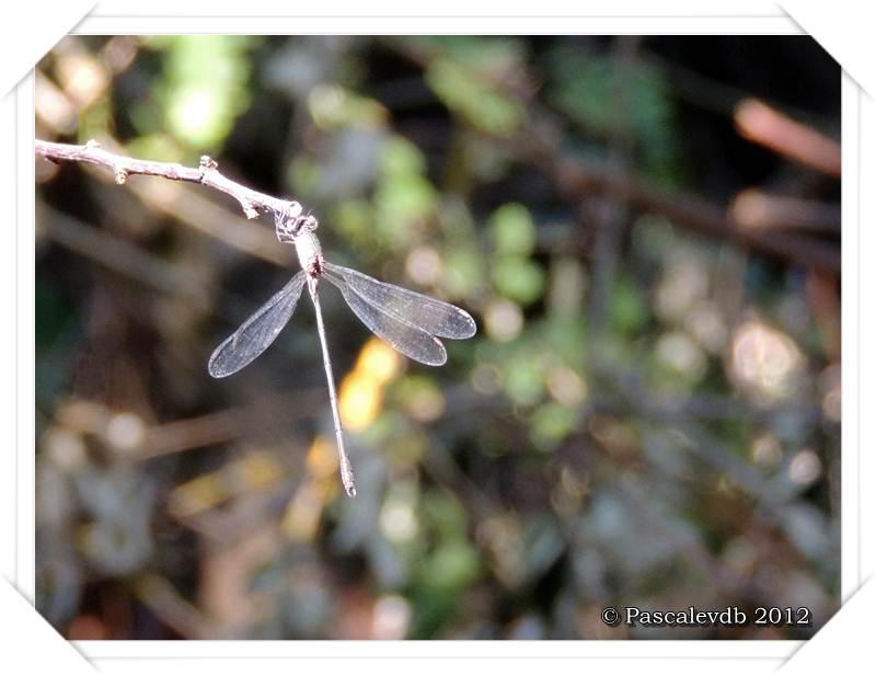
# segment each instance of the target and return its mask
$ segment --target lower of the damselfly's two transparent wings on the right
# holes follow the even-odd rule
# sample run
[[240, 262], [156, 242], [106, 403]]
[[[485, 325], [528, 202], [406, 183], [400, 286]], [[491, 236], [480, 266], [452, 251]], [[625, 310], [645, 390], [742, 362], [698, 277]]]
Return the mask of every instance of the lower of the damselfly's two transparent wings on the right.
[[[335, 265], [333, 265], [335, 267]], [[385, 340], [392, 348], [427, 366], [447, 363], [447, 351], [441, 341], [423, 329], [399, 321], [382, 307], [368, 302], [344, 276], [326, 268], [323, 275], [337, 286], [354, 313], [372, 333]]]

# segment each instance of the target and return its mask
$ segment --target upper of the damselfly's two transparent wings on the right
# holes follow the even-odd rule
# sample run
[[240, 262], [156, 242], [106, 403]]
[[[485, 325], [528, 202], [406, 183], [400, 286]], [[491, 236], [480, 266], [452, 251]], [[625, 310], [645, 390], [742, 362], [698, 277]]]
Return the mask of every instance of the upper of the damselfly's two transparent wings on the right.
[[[422, 329], [438, 338], [461, 340], [471, 338], [477, 331], [469, 312], [436, 300], [422, 293], [414, 293], [400, 286], [379, 282], [348, 267], [326, 262], [325, 268], [343, 277], [349, 287], [368, 305], [402, 323]], [[401, 351], [401, 350], [400, 350]]]

